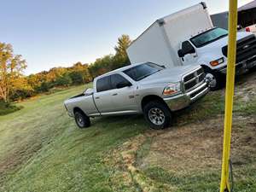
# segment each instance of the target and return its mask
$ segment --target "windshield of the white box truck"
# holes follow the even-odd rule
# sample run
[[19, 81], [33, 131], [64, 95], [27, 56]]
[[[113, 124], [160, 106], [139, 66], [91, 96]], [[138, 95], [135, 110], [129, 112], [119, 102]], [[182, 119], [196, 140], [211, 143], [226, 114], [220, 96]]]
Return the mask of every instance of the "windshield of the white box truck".
[[200, 48], [207, 44], [211, 44], [213, 41], [219, 38], [224, 38], [228, 35], [228, 31], [222, 28], [213, 28], [207, 32], [203, 32], [200, 35], [190, 38], [190, 41], [195, 47]]

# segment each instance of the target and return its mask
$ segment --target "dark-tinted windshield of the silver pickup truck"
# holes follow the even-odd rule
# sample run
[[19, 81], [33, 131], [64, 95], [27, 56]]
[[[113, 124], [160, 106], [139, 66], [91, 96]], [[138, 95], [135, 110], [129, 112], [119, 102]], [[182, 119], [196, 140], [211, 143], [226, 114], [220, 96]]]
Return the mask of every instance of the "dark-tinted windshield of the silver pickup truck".
[[126, 69], [124, 73], [128, 75], [131, 79], [139, 81], [141, 79], [147, 78], [149, 75], [159, 72], [164, 68], [165, 67], [161, 67], [154, 63], [148, 62], [136, 67]]

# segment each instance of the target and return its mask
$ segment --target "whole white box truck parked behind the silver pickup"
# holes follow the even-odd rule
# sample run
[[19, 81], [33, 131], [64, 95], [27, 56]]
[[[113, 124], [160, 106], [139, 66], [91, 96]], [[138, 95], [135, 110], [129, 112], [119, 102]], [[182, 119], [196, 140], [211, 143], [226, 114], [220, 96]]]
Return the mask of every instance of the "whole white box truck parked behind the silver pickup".
[[[151, 61], [166, 67], [201, 65], [211, 89], [224, 84], [228, 31], [212, 26], [206, 3], [156, 20], [127, 49], [131, 63]], [[237, 33], [237, 73], [256, 66], [256, 38]]]

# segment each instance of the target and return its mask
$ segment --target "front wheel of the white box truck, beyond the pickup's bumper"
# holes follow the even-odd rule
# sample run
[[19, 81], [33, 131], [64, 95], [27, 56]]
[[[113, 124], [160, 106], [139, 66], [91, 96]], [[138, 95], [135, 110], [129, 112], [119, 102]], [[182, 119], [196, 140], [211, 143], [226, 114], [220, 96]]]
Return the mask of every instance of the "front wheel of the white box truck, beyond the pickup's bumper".
[[209, 87], [211, 90], [220, 90], [224, 87], [224, 75], [206, 70], [206, 78], [210, 80]]

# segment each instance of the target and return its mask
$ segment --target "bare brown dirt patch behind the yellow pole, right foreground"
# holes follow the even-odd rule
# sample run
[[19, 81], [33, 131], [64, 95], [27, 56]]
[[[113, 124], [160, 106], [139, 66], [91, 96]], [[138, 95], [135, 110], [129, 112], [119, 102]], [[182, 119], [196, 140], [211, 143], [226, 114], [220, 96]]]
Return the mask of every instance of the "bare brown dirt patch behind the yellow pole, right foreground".
[[[161, 166], [174, 172], [193, 172], [220, 168], [224, 119], [209, 119], [201, 124], [173, 127], [154, 136], [141, 169]], [[246, 164], [256, 156], [255, 119], [234, 118], [231, 159]]]

